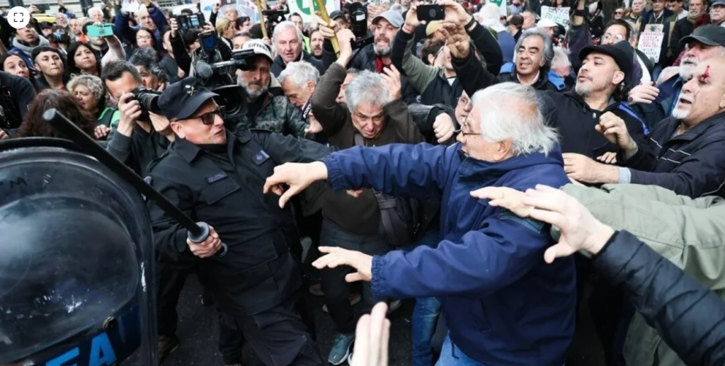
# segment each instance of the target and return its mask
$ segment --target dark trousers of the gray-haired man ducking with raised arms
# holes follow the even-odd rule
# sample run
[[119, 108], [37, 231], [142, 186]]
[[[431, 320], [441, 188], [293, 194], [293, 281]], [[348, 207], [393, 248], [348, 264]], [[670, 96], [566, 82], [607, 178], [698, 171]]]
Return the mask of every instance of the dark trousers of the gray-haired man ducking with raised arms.
[[[323, 220], [320, 246], [339, 246], [370, 255], [383, 255], [394, 249], [385, 238], [379, 235], [365, 236], [350, 233], [329, 220]], [[350, 284], [345, 281], [345, 275], [352, 271], [352, 267], [348, 266], [325, 268], [320, 271], [322, 291], [325, 293], [328, 312], [335, 324], [335, 330], [342, 334], [355, 333], [357, 323], [355, 311], [348, 299]], [[365, 301], [366, 307], [372, 308], [377, 301], [382, 300], [384, 299], [373, 299], [370, 283], [363, 283], [363, 301]]]

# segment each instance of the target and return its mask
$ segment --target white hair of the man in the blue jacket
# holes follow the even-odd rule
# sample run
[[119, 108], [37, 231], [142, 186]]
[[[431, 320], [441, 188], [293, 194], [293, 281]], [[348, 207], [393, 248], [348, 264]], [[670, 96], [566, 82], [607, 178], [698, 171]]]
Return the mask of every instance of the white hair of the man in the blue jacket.
[[531, 86], [500, 83], [477, 91], [471, 101], [479, 109], [484, 140], [511, 140], [514, 156], [533, 152], [547, 155], [557, 145], [556, 130], [546, 125], [542, 102]]

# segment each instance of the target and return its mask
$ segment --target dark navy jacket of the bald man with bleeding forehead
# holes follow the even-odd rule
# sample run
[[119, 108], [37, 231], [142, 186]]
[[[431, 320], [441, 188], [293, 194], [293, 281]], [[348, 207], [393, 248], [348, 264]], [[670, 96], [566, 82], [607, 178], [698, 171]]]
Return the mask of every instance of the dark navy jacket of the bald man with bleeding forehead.
[[725, 197], [725, 112], [700, 122], [679, 136], [679, 121], [669, 117], [653, 130], [654, 155], [637, 151], [624, 162], [630, 183], [650, 184], [697, 198]]

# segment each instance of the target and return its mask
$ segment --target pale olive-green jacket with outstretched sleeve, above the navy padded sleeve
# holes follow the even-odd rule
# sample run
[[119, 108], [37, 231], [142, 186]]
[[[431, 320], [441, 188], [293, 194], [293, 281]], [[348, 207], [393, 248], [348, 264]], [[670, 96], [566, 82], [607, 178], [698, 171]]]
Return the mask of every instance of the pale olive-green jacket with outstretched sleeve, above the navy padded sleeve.
[[[615, 230], [627, 230], [725, 299], [725, 200], [690, 199], [658, 186], [568, 184], [563, 191]], [[657, 330], [635, 314], [624, 342], [626, 365], [680, 366], [684, 362]], [[655, 362], [656, 360], [656, 362]]]

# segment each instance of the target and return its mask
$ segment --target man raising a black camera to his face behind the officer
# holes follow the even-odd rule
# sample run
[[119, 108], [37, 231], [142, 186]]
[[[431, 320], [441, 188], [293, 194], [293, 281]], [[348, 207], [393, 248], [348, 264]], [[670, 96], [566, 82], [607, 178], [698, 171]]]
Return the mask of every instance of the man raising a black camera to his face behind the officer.
[[138, 175], [144, 175], [149, 162], [160, 157], [174, 139], [169, 121], [162, 115], [144, 111], [130, 93], [141, 87], [143, 80], [129, 62], [109, 63], [101, 79], [109, 94], [118, 101], [121, 114], [118, 125], [109, 133], [107, 150]]

